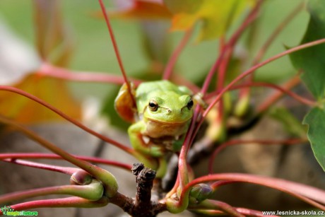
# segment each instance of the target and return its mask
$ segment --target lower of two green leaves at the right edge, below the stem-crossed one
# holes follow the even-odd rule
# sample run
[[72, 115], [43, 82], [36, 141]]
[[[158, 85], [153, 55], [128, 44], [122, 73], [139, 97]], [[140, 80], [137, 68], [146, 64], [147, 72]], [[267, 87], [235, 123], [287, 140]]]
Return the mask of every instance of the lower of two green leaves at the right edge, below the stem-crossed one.
[[308, 125], [308, 139], [312, 144], [312, 151], [321, 168], [325, 171], [325, 110], [314, 107], [305, 117], [303, 124]]

